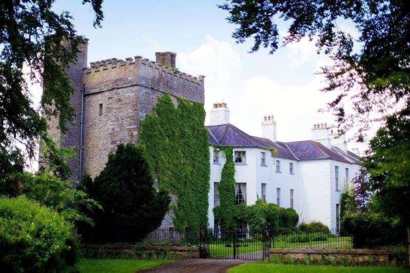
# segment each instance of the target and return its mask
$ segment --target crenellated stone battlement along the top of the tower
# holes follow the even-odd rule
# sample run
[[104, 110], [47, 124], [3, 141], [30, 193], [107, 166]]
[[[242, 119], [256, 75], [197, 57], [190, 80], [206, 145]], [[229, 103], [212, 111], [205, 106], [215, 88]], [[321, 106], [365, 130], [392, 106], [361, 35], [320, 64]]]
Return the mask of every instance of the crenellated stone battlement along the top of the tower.
[[149, 66], [154, 69], [158, 69], [175, 77], [179, 77], [191, 82], [195, 82], [198, 85], [203, 85], [203, 79], [205, 76], [199, 75], [198, 77], [189, 75], [184, 72], [175, 71], [172, 67], [166, 65], [157, 64], [155, 61], [149, 60], [147, 58], [142, 58], [141, 56], [135, 56], [134, 58], [126, 58], [126, 60], [111, 58], [95, 62], [90, 62], [90, 67], [84, 68], [84, 74], [98, 73], [100, 71], [106, 70], [116, 70], [124, 66]]

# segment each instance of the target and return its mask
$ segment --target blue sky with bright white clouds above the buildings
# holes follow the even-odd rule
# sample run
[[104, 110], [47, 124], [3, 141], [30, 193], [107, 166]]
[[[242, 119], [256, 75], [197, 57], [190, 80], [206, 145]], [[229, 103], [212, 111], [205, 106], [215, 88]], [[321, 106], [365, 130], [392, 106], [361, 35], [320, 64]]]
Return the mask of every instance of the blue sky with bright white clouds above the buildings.
[[[92, 26], [94, 12], [79, 0], [57, 1], [54, 10], [70, 11], [77, 33], [89, 39], [88, 62], [136, 55], [155, 60], [157, 51], [176, 52], [181, 72], [206, 76], [207, 113], [214, 102], [227, 102], [231, 123], [251, 135], [261, 136], [266, 114], [275, 117], [279, 141], [308, 140], [314, 123], [334, 123], [332, 114], [318, 112], [336, 95], [320, 92], [324, 82], [317, 74], [331, 60], [318, 55], [308, 39], [273, 55], [263, 48], [248, 53], [252, 40], [235, 43], [235, 25], [227, 22], [228, 12], [217, 7], [222, 3], [106, 0], [102, 28]], [[338, 27], [357, 37], [351, 24]], [[279, 24], [279, 31], [286, 33], [286, 23]], [[38, 87], [32, 90], [38, 97]], [[352, 148], [364, 151], [366, 144], [351, 141], [348, 149]]]

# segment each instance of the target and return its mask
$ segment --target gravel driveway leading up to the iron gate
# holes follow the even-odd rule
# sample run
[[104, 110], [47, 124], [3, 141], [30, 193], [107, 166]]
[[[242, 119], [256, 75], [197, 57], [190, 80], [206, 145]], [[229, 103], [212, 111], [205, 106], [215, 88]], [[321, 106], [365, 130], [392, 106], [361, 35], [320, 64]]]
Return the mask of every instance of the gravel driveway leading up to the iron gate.
[[228, 259], [186, 259], [137, 272], [226, 272], [228, 268], [247, 261]]

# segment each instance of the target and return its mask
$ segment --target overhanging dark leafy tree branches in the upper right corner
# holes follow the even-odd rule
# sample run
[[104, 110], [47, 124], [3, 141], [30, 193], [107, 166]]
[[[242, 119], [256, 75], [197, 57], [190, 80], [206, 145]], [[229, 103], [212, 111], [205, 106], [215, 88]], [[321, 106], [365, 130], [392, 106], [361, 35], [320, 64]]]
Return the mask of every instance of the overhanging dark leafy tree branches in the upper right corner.
[[[238, 25], [233, 33], [238, 43], [254, 39], [251, 52], [263, 46], [274, 53], [281, 41], [277, 23], [285, 20], [290, 26], [283, 45], [309, 37], [316, 41], [318, 53], [330, 54], [334, 65], [322, 68], [327, 81], [323, 91], [336, 90], [338, 95], [328, 108], [342, 129], [359, 125], [359, 140], [370, 128], [369, 121], [410, 107], [410, 5], [406, 1], [227, 0], [219, 7], [229, 12], [230, 23]], [[353, 22], [358, 40], [339, 29], [339, 20]], [[347, 107], [352, 105], [349, 112]]]

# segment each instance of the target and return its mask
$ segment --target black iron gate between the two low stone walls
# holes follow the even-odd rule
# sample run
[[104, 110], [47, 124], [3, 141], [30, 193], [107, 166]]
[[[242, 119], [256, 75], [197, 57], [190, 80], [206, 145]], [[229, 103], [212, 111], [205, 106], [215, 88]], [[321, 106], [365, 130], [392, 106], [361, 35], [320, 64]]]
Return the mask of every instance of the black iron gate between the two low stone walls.
[[263, 260], [269, 255], [272, 237], [269, 230], [200, 230], [202, 258]]

